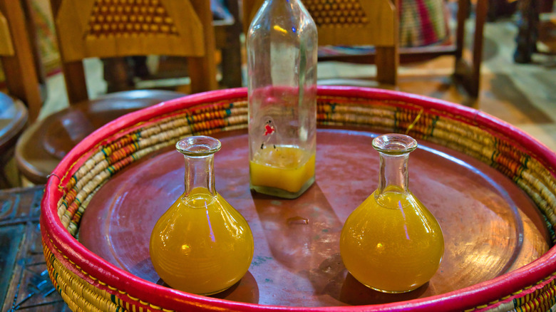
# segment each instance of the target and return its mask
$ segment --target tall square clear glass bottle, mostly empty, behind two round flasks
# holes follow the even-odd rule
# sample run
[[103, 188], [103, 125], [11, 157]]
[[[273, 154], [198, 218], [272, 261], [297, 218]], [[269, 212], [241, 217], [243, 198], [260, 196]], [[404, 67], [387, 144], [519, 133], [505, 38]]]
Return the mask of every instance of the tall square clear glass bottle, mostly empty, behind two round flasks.
[[316, 25], [299, 0], [265, 0], [247, 33], [249, 175], [256, 192], [299, 197], [314, 182]]

